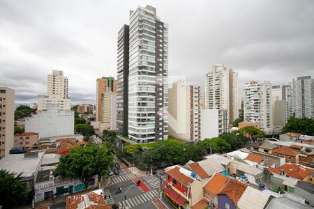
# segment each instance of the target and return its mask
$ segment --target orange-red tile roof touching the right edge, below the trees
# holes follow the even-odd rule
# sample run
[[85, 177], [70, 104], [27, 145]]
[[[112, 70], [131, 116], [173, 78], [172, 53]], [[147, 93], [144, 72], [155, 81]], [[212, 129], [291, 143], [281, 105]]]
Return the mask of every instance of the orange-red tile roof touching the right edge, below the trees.
[[301, 180], [306, 178], [306, 176], [310, 175], [314, 171], [314, 169], [310, 169], [308, 167], [302, 167], [299, 164], [290, 164], [290, 163], [282, 165], [281, 169], [283, 169], [283, 171], [287, 173], [287, 176], [301, 179]]

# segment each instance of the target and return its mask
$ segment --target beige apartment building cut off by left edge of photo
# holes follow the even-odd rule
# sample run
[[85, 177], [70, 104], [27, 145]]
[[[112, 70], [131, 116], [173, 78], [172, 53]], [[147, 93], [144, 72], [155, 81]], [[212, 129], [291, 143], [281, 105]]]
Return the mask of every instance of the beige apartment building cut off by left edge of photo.
[[0, 86], [0, 159], [14, 146], [15, 91]]

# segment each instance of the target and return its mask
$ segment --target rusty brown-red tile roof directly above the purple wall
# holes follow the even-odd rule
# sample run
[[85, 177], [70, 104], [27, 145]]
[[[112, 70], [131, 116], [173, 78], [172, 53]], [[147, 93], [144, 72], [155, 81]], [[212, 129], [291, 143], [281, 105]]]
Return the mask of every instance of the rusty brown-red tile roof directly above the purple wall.
[[239, 181], [234, 179], [229, 179], [223, 190], [219, 194], [226, 194], [234, 203], [234, 205], [237, 205], [240, 197], [246, 190], [247, 185], [244, 185], [243, 183], [239, 183]]

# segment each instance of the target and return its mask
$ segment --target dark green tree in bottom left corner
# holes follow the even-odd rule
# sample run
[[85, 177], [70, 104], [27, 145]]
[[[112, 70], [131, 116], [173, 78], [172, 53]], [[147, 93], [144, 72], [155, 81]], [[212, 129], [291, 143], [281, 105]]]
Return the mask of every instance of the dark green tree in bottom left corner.
[[10, 173], [0, 170], [0, 206], [3, 208], [13, 208], [19, 203], [27, 201], [29, 189], [26, 183], [22, 183], [22, 173]]

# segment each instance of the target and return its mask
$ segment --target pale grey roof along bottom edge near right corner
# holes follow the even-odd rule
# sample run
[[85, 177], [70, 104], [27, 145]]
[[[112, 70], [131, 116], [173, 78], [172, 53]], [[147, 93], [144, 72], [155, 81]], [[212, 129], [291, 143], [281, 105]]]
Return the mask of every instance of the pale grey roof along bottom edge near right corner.
[[311, 207], [298, 203], [297, 201], [287, 199], [282, 196], [282, 197], [271, 199], [270, 203], [265, 209], [295, 209], [295, 208], [309, 209]]

